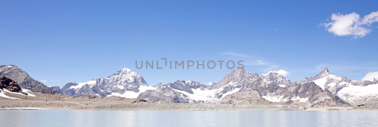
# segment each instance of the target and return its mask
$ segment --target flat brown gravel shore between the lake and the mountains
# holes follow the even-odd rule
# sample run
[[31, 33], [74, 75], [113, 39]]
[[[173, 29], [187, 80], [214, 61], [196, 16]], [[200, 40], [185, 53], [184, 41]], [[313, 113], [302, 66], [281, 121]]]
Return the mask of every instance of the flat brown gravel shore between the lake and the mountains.
[[[75, 97], [64, 94], [42, 94], [26, 96], [9, 93], [7, 96], [19, 99], [0, 98], [0, 109], [22, 109], [28, 107], [46, 110], [302, 110], [295, 105], [252, 105], [252, 104], [209, 104], [209, 103], [149, 103], [144, 99], [110, 96]], [[374, 107], [374, 106], [372, 106]], [[321, 107], [307, 110], [369, 110], [369, 107]]]

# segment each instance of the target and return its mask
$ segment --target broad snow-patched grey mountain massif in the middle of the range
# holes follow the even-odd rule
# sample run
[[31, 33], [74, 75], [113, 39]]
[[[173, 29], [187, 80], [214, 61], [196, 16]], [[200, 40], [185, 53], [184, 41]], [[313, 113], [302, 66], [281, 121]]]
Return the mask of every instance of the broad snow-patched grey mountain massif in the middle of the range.
[[[236, 70], [227, 74], [222, 79], [222, 81], [214, 82], [212, 85], [203, 85], [200, 82], [196, 82], [197, 85], [193, 85], [192, 82], [194, 81], [176, 81], [174, 83], [160, 85], [160, 88], [157, 87], [158, 89], [156, 90], [141, 93], [141, 96], [139, 96], [138, 98], [144, 98], [150, 102], [164, 102], [166, 100], [168, 100], [168, 102], [172, 102], [169, 100], [176, 100], [175, 102], [204, 101], [209, 103], [217, 103], [221, 101], [225, 96], [237, 93], [242, 90], [242, 86], [250, 84], [251, 82], [260, 81], [265, 82], [267, 85], [274, 84], [273, 82], [279, 82], [280, 87], [286, 87], [291, 83], [289, 80], [285, 79], [285, 77], [278, 73], [267, 73], [259, 76], [257, 73], [249, 73], [243, 68], [238, 67]], [[245, 89], [246, 88], [243, 88], [243, 90]], [[158, 94], [156, 93], [158, 92], [160, 92], [160, 96], [157, 96]]]

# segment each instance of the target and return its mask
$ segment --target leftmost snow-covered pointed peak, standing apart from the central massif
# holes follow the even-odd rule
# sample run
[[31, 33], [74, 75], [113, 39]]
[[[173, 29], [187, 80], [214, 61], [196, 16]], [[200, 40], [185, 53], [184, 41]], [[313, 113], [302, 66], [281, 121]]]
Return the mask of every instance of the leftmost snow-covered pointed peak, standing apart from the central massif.
[[107, 97], [115, 95], [136, 98], [140, 93], [153, 89], [155, 88], [149, 86], [140, 74], [129, 68], [122, 68], [105, 78], [95, 78], [84, 83], [69, 82], [62, 87], [61, 91], [64, 94], [75, 96]]

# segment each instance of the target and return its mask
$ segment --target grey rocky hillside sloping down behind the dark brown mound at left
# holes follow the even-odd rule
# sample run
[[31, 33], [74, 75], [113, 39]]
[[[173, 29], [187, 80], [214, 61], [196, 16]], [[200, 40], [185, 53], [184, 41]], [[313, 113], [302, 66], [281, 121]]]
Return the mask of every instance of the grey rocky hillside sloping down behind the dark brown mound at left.
[[15, 65], [1, 65], [0, 66], [0, 76], [8, 77], [13, 81], [17, 82], [20, 87], [26, 88], [33, 92], [57, 94], [59, 91], [51, 90], [49, 87], [44, 85], [42, 82], [38, 82], [31, 78], [28, 73], [21, 70]]

